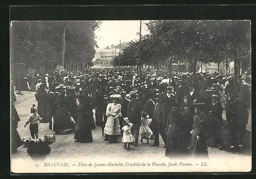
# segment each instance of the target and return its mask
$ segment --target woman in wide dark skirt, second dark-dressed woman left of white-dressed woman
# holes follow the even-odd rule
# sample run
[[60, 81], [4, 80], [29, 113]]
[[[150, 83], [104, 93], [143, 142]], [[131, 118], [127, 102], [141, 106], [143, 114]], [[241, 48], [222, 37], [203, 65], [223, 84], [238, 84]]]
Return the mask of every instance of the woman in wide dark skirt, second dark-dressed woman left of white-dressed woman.
[[72, 120], [68, 101], [66, 98], [65, 88], [62, 87], [59, 91], [59, 97], [54, 103], [54, 126], [53, 130], [58, 133], [67, 133], [74, 128], [74, 119]]

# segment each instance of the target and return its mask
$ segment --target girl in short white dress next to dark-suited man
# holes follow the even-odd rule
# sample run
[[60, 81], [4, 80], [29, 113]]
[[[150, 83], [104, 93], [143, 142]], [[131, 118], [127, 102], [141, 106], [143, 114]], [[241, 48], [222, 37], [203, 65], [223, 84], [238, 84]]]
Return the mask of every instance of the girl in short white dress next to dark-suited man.
[[149, 125], [152, 122], [152, 119], [149, 119], [148, 115], [142, 111], [141, 113], [141, 126], [139, 133], [141, 135], [140, 142], [143, 143], [143, 139], [146, 139], [146, 143], [149, 144], [148, 139], [151, 138], [153, 135], [152, 130], [150, 129]]

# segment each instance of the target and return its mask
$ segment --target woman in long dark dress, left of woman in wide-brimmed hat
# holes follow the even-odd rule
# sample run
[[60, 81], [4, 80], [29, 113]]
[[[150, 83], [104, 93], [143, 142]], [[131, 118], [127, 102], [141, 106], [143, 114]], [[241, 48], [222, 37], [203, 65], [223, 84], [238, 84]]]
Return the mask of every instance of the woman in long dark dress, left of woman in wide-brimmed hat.
[[178, 113], [177, 105], [173, 106], [172, 112], [168, 115], [168, 134], [166, 141], [165, 156], [178, 156], [182, 151], [182, 116]]

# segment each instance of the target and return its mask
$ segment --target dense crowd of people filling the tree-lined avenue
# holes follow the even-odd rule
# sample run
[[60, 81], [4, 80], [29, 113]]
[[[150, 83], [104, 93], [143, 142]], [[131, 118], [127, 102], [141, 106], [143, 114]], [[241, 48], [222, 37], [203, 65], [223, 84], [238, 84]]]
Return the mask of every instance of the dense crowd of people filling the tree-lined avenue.
[[[35, 86], [40, 122], [49, 123], [56, 134], [74, 131], [77, 142], [93, 142], [92, 130], [100, 126], [104, 141], [119, 143], [122, 136], [127, 150], [131, 145], [137, 147], [139, 138], [147, 144], [153, 140], [151, 146], [157, 147], [160, 134], [166, 156], [208, 156], [206, 133], [212, 138], [211, 147], [224, 148], [225, 110], [229, 148], [238, 150], [244, 145], [251, 98], [251, 76], [246, 73], [237, 78], [236, 94], [233, 74], [169, 74], [143, 69], [139, 75], [133, 68], [56, 69], [38, 75]], [[12, 114], [15, 143], [20, 140], [16, 130], [19, 118], [16, 110]], [[13, 151], [19, 146], [13, 144]]]

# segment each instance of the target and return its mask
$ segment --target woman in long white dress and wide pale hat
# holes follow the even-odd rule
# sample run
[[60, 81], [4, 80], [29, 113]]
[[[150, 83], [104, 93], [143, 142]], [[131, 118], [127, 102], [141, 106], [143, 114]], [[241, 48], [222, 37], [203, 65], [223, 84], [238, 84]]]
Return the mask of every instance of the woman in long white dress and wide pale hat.
[[119, 118], [122, 117], [122, 114], [121, 104], [118, 104], [117, 101], [121, 98], [121, 95], [111, 95], [110, 98], [113, 99], [113, 102], [106, 106], [106, 116], [108, 119], [104, 127], [104, 134], [111, 136], [111, 143], [118, 143], [117, 136], [121, 135]]

